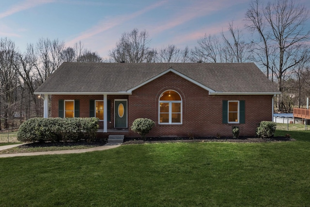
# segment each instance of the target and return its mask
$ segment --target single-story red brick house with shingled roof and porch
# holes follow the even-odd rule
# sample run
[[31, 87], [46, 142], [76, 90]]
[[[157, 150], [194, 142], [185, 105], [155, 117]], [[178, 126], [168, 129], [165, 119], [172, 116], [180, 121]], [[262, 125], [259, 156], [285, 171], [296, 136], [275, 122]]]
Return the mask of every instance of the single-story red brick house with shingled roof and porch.
[[223, 137], [254, 136], [280, 93], [253, 63], [63, 63], [35, 94], [52, 117], [98, 117], [103, 136], [139, 137], [132, 122], [150, 118], [149, 137]]

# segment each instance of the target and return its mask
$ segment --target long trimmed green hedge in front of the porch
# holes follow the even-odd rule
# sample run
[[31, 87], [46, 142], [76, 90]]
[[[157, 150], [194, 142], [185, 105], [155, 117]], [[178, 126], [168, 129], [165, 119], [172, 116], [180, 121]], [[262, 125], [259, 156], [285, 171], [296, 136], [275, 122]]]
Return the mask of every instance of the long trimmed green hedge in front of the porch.
[[98, 118], [31, 118], [18, 129], [20, 142], [59, 142], [94, 140], [99, 128]]

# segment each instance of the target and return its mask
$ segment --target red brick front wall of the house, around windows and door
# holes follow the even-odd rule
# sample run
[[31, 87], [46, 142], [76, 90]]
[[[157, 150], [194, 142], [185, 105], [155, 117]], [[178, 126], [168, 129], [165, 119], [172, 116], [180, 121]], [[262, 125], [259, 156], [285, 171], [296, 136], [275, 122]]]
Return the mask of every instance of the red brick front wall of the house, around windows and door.
[[[181, 125], [158, 124], [158, 99], [166, 90], [177, 91], [183, 101], [183, 118]], [[133, 91], [132, 95], [108, 95], [111, 101], [111, 122], [108, 128], [114, 127], [114, 99], [128, 99], [127, 137], [140, 137], [130, 130], [136, 118], [150, 118], [155, 127], [149, 137], [178, 136], [186, 137], [189, 133], [195, 137], [232, 136], [232, 127], [240, 127], [240, 136], [254, 136], [257, 125], [265, 120], [272, 120], [272, 96], [209, 96], [209, 92], [170, 72]], [[103, 95], [95, 96], [52, 96], [52, 117], [58, 116], [58, 100], [80, 100], [80, 117], [89, 116], [89, 100], [102, 100]], [[222, 100], [245, 100], [246, 123], [222, 124]], [[103, 124], [101, 124], [103, 127]]]

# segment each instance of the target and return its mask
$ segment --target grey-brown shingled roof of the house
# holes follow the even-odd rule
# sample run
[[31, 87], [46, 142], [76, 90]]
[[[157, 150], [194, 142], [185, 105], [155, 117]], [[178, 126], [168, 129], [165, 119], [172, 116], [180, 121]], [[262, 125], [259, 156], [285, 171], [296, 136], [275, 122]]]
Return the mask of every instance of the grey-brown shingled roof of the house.
[[168, 72], [210, 94], [279, 94], [254, 63], [63, 63], [35, 94], [130, 94]]

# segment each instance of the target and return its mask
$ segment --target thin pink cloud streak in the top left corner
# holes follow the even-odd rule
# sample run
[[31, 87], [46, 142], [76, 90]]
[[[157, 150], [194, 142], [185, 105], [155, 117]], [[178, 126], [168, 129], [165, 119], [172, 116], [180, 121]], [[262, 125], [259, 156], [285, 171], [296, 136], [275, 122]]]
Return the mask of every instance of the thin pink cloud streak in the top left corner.
[[32, 7], [36, 7], [40, 4], [46, 4], [54, 2], [55, 0], [25, 0], [24, 2], [18, 3], [11, 7], [9, 10], [0, 14], [0, 19], [6, 16], [11, 16], [17, 12], [24, 11], [30, 9]]

